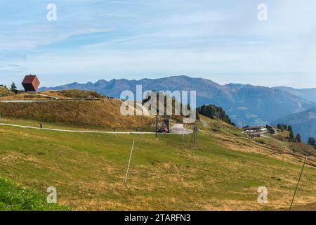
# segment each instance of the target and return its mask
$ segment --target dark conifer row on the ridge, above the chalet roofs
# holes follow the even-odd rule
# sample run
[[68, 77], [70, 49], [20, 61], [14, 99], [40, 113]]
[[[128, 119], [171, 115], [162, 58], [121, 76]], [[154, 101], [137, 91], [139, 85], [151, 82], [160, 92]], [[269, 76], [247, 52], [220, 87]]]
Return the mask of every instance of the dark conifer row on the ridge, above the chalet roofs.
[[232, 120], [230, 120], [230, 117], [225, 113], [223, 108], [218, 107], [216, 105], [202, 105], [199, 108], [197, 108], [197, 111], [199, 114], [209, 117], [211, 119], [223, 120], [224, 122], [227, 122], [232, 126], [236, 126], [236, 124], [232, 122]]

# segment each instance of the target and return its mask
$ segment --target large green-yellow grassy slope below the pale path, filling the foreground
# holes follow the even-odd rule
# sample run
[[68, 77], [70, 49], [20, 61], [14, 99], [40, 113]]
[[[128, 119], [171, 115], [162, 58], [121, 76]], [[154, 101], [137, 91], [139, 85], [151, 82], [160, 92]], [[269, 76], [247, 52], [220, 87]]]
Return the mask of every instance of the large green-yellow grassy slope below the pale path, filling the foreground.
[[[183, 146], [178, 135], [155, 140], [1, 126], [0, 176], [38, 192], [55, 186], [58, 203], [74, 210], [287, 210], [303, 158], [272, 136], [247, 139], [225, 122], [202, 120], [197, 150], [187, 148], [190, 136]], [[316, 210], [312, 160], [295, 200], [308, 210]], [[268, 188], [268, 204], [258, 204], [259, 186]]]

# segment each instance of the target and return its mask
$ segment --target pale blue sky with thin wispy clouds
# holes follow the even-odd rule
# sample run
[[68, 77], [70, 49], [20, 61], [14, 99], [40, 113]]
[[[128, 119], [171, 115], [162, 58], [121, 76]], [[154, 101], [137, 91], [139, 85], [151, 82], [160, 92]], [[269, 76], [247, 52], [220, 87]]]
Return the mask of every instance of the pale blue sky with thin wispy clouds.
[[[46, 6], [57, 20], [46, 20]], [[258, 4], [268, 20], [257, 19]], [[170, 75], [316, 87], [316, 1], [0, 0], [0, 84]]]

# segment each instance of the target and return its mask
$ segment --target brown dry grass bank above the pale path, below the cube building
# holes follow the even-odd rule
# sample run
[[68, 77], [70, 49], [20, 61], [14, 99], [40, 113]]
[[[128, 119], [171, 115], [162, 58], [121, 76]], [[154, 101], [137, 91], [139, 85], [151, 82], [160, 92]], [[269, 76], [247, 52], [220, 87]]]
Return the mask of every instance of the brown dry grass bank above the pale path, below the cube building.
[[50, 101], [0, 103], [1, 117], [78, 125], [89, 128], [151, 129], [151, 117], [120, 116], [121, 101]]

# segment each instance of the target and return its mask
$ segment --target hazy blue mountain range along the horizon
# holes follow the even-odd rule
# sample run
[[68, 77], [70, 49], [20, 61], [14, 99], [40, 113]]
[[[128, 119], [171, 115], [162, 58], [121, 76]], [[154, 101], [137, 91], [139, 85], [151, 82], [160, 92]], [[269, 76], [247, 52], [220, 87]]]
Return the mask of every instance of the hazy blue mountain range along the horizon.
[[214, 104], [224, 108], [226, 113], [240, 127], [269, 124], [278, 118], [300, 113], [316, 107], [316, 89], [292, 89], [288, 87], [254, 86], [251, 84], [220, 85], [209, 79], [173, 76], [159, 79], [100, 79], [96, 83], [65, 84], [42, 87], [39, 91], [81, 89], [119, 98], [121, 91], [136, 92], [136, 85], [143, 85], [143, 91], [197, 91], [197, 106]]

